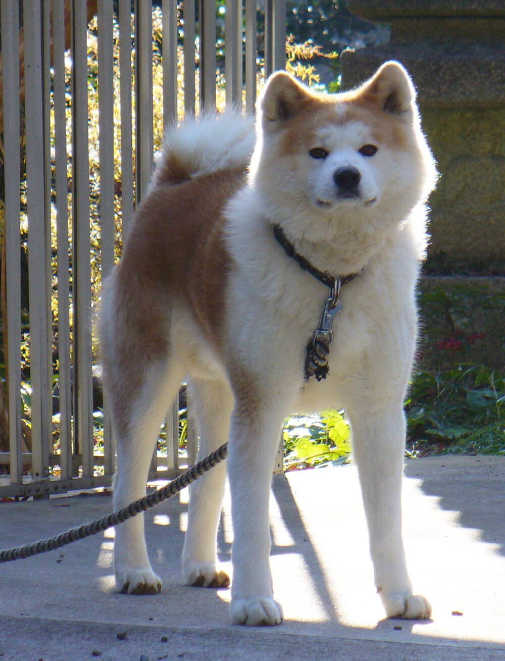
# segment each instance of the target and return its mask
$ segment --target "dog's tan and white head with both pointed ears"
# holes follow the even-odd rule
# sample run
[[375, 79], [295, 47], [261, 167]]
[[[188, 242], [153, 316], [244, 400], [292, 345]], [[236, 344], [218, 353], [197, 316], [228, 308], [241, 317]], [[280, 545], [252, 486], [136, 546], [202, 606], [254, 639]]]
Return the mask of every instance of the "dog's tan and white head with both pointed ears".
[[258, 99], [257, 133], [251, 182], [294, 230], [308, 214], [311, 229], [299, 227], [305, 236], [317, 238], [318, 225], [341, 235], [342, 222], [401, 222], [434, 186], [414, 86], [397, 62], [337, 95], [274, 73]]

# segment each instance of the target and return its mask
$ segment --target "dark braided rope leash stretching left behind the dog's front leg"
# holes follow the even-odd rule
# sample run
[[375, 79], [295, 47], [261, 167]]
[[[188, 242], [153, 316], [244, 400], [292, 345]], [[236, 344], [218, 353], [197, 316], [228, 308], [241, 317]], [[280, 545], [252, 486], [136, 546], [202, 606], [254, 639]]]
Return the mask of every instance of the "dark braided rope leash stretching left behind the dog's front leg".
[[70, 544], [73, 541], [77, 541], [78, 539], [84, 539], [90, 535], [96, 535], [102, 530], [110, 528], [112, 525], [122, 524], [126, 520], [131, 519], [132, 516], [136, 516], [136, 514], [140, 514], [140, 512], [149, 510], [151, 507], [163, 502], [163, 500], [172, 498], [184, 487], [198, 479], [200, 475], [204, 475], [204, 473], [210, 471], [211, 468], [214, 468], [215, 465], [220, 461], [223, 461], [226, 457], [228, 453], [227, 446], [228, 444], [225, 443], [223, 446], [218, 447], [217, 450], [212, 452], [208, 457], [199, 461], [192, 467], [192, 469], [186, 471], [186, 473], [183, 473], [168, 485], [161, 487], [152, 494], [149, 494], [149, 496], [139, 498], [139, 500], [130, 503], [130, 505], [127, 505], [118, 512], [113, 512], [112, 514], [104, 516], [104, 518], [93, 521], [90, 524], [71, 528], [56, 537], [50, 537], [50, 539], [41, 539], [33, 544], [0, 551], [0, 563], [9, 563], [12, 560], [19, 560], [20, 558], [28, 558], [31, 555], [38, 555], [38, 553], [53, 551], [54, 549], [59, 549], [59, 547]]

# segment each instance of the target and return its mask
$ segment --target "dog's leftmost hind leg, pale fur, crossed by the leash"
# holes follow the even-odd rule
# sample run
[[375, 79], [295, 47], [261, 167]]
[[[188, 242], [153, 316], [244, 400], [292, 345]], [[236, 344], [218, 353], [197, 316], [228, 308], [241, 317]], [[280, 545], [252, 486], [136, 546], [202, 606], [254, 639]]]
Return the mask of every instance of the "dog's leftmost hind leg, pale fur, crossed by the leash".
[[[145, 496], [149, 463], [161, 422], [175, 397], [179, 375], [169, 372], [167, 362], [151, 363], [142, 369], [139, 386], [120, 393], [112, 401], [117, 436], [117, 471], [114, 511]], [[137, 373], [138, 376], [138, 373]], [[116, 526], [114, 539], [116, 588], [128, 594], [155, 594], [161, 580], [153, 572], [145, 546], [143, 514]]]

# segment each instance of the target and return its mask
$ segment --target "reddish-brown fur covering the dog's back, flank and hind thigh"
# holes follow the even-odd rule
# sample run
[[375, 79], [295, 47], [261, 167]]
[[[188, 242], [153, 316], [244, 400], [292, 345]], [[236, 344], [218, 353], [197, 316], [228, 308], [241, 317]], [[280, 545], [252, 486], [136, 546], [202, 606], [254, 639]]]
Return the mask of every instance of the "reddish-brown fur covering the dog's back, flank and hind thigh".
[[[177, 300], [192, 311], [202, 333], [221, 353], [229, 268], [223, 206], [243, 179], [243, 169], [237, 168], [180, 184], [159, 182], [139, 206], [115, 274], [115, 321], [130, 331], [118, 334], [114, 357], [127, 366], [126, 372], [122, 379], [108, 379], [116, 393], [118, 424], [128, 424], [145, 359], [167, 356], [169, 319]], [[115, 371], [114, 365], [109, 371]]]

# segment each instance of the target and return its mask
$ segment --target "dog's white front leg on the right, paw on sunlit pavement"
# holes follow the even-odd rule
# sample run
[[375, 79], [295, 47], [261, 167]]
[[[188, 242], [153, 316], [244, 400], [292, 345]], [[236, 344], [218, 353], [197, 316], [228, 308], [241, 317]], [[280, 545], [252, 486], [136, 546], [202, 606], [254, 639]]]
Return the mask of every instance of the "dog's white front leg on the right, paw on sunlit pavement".
[[368, 521], [375, 586], [387, 617], [425, 619], [431, 606], [412, 594], [401, 534], [401, 483], [405, 417], [399, 401], [357, 411], [348, 410], [354, 457], [358, 464]]

